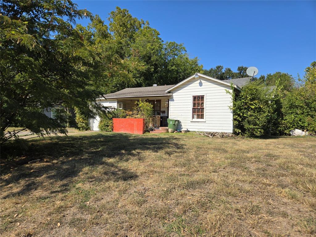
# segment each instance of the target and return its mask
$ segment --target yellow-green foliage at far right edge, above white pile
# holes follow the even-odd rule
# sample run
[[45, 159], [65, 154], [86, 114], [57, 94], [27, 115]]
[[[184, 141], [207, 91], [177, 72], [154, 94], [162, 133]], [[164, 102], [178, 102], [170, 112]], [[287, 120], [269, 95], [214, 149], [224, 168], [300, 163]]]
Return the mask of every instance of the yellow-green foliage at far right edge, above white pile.
[[305, 70], [302, 84], [285, 92], [282, 100], [283, 127], [316, 132], [316, 62]]

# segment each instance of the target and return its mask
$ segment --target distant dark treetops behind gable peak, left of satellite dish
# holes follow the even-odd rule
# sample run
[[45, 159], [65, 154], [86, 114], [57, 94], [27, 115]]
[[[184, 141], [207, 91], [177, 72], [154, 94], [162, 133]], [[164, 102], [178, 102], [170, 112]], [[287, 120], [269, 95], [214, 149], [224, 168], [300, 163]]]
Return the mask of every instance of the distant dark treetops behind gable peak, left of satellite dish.
[[210, 68], [209, 70], [204, 70], [203, 74], [216, 78], [218, 80], [228, 80], [234, 78], [248, 77], [246, 70], [247, 67], [239, 66], [237, 72], [233, 72], [230, 68], [225, 68], [222, 65], [217, 65], [215, 68]]

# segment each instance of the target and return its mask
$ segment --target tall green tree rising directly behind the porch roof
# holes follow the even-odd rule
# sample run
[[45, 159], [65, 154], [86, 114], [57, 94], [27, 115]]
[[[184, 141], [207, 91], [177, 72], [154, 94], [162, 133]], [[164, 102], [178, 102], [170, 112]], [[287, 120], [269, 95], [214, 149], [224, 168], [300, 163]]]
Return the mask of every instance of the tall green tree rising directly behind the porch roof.
[[197, 58], [189, 58], [183, 44], [164, 42], [159, 31], [133, 17], [127, 9], [116, 7], [110, 13], [109, 31], [117, 53], [129, 58], [133, 85], [114, 79], [107, 92], [126, 87], [174, 84], [202, 71]]

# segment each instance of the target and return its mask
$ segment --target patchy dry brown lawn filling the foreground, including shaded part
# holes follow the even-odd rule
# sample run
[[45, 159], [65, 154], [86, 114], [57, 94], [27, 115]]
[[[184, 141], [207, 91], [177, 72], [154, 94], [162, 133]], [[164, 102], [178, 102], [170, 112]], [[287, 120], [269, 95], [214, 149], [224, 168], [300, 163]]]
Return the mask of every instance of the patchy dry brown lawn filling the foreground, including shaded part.
[[2, 160], [2, 236], [316, 234], [314, 137], [85, 132], [31, 143]]

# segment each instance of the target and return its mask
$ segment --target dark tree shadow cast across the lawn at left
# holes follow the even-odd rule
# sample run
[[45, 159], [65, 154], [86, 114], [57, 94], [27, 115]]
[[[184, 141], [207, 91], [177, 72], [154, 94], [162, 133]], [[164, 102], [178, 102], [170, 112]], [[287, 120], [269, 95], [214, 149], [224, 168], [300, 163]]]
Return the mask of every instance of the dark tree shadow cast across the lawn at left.
[[[52, 194], [67, 191], [71, 184], [80, 179], [89, 182], [137, 179], [137, 173], [121, 164], [131, 159], [142, 161], [144, 151], [156, 153], [163, 150], [167, 155], [184, 152], [182, 145], [176, 142], [178, 139], [180, 138], [99, 133], [33, 141], [28, 151], [20, 153], [11, 161], [2, 160], [1, 189], [6, 190], [2, 198], [24, 195], [54, 182], [60, 182], [61, 185], [58, 191], [52, 188]], [[11, 146], [10, 151], [13, 154], [14, 149], [16, 148]], [[14, 157], [13, 154], [11, 157]], [[28, 164], [28, 161], [35, 159], [41, 161]], [[102, 173], [95, 176], [88, 172], [82, 177], [80, 173], [87, 167], [91, 170], [99, 169]], [[10, 184], [16, 184], [14, 191], [6, 188]]]

